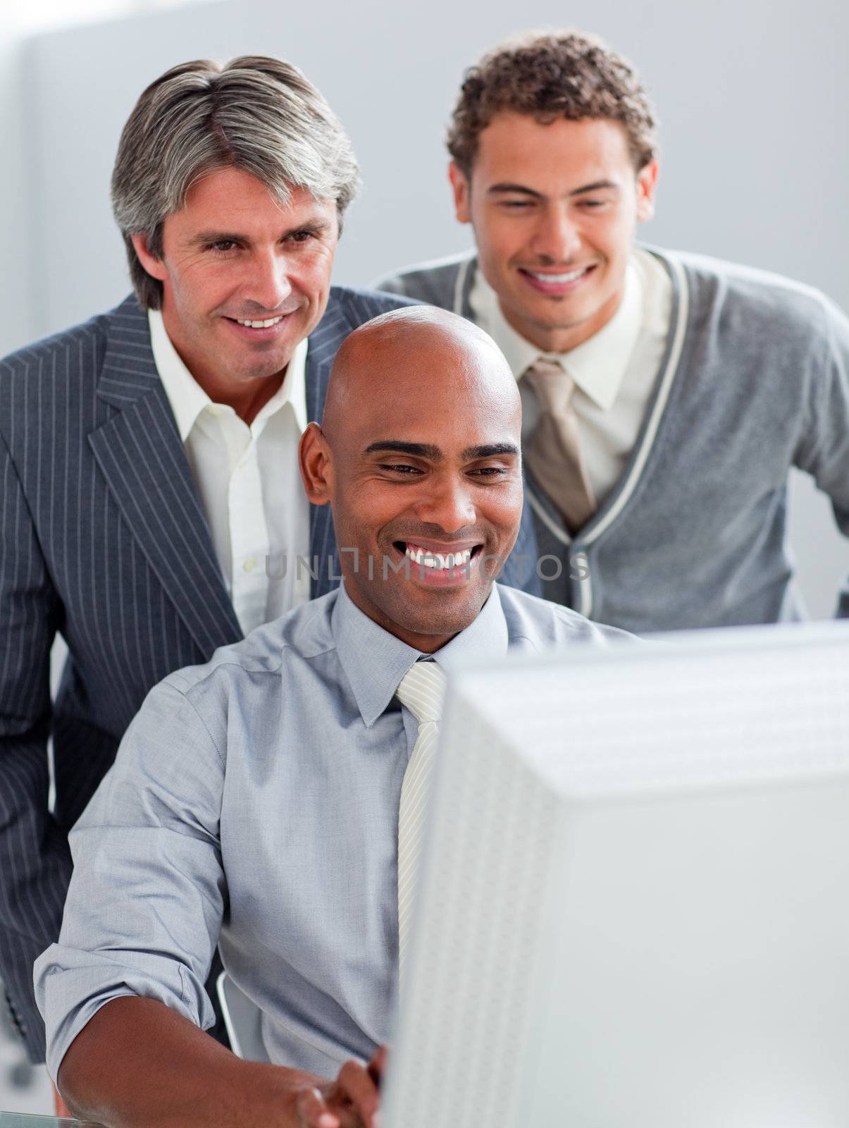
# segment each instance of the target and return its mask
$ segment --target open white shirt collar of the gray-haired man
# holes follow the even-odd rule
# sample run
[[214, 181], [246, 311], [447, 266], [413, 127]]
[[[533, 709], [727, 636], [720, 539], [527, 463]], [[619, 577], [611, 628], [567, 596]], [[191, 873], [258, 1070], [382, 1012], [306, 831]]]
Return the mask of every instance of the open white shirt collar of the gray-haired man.
[[[171, 338], [165, 327], [162, 314], [158, 309], [148, 310], [150, 325], [150, 346], [153, 352], [153, 363], [157, 365], [165, 394], [174, 412], [180, 442], [185, 442], [197, 422], [197, 416], [213, 402], [195, 380], [183, 363]], [[286, 376], [281, 387], [265, 404], [254, 420], [254, 426], [267, 420], [284, 404], [291, 403], [299, 431], [307, 430], [307, 349], [309, 342], [304, 338], [295, 346], [286, 368]]]

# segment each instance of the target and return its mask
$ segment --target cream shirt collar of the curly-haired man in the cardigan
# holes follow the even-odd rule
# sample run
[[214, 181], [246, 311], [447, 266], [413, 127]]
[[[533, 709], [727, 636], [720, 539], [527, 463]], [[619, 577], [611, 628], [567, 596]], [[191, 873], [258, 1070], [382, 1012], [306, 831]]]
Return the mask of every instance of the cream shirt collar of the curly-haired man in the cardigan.
[[519, 380], [540, 356], [566, 369], [578, 388], [602, 411], [609, 411], [625, 379], [643, 324], [643, 280], [635, 256], [625, 272], [619, 308], [607, 325], [565, 353], [543, 353], [516, 333], [502, 312], [498, 297], [478, 268], [469, 298], [475, 319], [494, 337]]

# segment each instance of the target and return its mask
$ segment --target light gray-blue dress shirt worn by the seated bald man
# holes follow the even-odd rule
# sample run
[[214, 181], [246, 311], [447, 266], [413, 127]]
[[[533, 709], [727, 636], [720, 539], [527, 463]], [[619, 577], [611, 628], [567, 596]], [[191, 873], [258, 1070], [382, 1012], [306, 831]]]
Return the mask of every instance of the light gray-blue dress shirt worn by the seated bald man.
[[[494, 587], [434, 658], [450, 676], [613, 635]], [[421, 656], [341, 588], [151, 690], [71, 832], [62, 932], [35, 966], [53, 1077], [121, 995], [210, 1025], [216, 942], [263, 1011], [272, 1061], [331, 1076], [387, 1040], [398, 804], [417, 734], [395, 693]]]

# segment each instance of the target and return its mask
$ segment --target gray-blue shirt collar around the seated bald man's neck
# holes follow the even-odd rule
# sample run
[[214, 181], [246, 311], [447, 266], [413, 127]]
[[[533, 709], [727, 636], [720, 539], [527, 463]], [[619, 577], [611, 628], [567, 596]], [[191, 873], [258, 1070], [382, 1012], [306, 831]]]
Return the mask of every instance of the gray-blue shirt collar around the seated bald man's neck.
[[381, 716], [404, 675], [419, 658], [433, 658], [451, 676], [460, 667], [507, 653], [507, 623], [493, 584], [480, 614], [434, 654], [396, 638], [360, 610], [342, 584], [330, 620], [336, 652], [366, 728]]

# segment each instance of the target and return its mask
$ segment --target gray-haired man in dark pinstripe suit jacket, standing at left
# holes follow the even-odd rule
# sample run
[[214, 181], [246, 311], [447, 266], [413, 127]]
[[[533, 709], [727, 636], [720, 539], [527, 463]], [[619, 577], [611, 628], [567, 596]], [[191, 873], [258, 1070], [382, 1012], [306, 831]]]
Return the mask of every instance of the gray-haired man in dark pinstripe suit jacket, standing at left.
[[35, 1060], [68, 831], [148, 690], [338, 583], [298, 443], [343, 338], [406, 303], [330, 289], [357, 186], [294, 67], [175, 67], [115, 162], [134, 296], [0, 362], [0, 977]]

